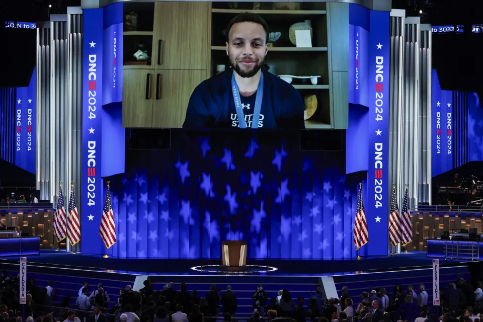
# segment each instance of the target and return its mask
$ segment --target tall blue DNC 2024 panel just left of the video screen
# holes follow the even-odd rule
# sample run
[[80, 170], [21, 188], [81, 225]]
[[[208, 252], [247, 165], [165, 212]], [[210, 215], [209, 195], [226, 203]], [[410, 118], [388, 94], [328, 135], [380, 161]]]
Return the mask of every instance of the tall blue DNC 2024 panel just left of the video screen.
[[[123, 4], [84, 10], [82, 116], [82, 251], [101, 254], [99, 235], [106, 187], [102, 178], [124, 173], [122, 128]], [[119, 66], [119, 68], [117, 68]]]

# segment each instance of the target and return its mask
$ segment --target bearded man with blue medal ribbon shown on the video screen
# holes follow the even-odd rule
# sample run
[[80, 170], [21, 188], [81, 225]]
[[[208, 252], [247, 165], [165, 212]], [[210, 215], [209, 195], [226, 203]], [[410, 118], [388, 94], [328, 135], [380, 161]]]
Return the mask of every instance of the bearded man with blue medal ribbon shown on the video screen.
[[304, 128], [300, 94], [263, 68], [269, 36], [265, 20], [241, 13], [230, 21], [226, 34], [231, 68], [196, 87], [183, 128]]

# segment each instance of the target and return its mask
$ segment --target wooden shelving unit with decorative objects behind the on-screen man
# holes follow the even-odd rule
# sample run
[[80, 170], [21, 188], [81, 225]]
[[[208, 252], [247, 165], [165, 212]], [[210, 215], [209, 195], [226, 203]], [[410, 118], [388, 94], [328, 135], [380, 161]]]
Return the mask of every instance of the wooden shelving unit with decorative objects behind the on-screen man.
[[[317, 85], [311, 85], [310, 81], [301, 83], [300, 79], [294, 79], [292, 85], [304, 98], [316, 95], [317, 111], [305, 121], [305, 127], [332, 128], [333, 113], [331, 110], [331, 66], [329, 63], [328, 41], [328, 11], [326, 3], [299, 3], [296, 6], [300, 10], [276, 10], [274, 3], [261, 3], [260, 10], [252, 8], [253, 3], [237, 3], [238, 8], [230, 9], [233, 3], [212, 2], [211, 9], [211, 75], [216, 72], [216, 65], [225, 64], [228, 68], [228, 60], [225, 53], [225, 41], [222, 31], [226, 28], [229, 20], [241, 12], [257, 13], [265, 19], [270, 31], [281, 32], [279, 40], [269, 47], [269, 54], [265, 63], [269, 71], [275, 75], [320, 75]], [[312, 27], [312, 47], [300, 48], [293, 45], [288, 37], [288, 31], [292, 24], [310, 20]]]

